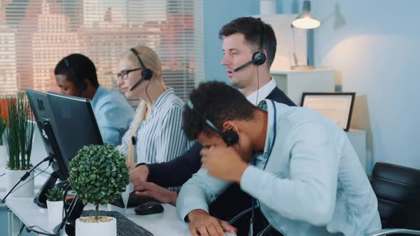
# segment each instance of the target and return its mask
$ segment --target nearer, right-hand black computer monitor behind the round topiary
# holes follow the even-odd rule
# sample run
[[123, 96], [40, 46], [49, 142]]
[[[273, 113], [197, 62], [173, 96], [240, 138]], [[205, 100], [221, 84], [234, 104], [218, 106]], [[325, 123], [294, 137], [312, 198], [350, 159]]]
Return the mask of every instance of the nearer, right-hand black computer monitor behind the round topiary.
[[103, 144], [90, 100], [82, 97], [47, 92], [61, 156], [68, 168], [69, 161], [85, 145]]

